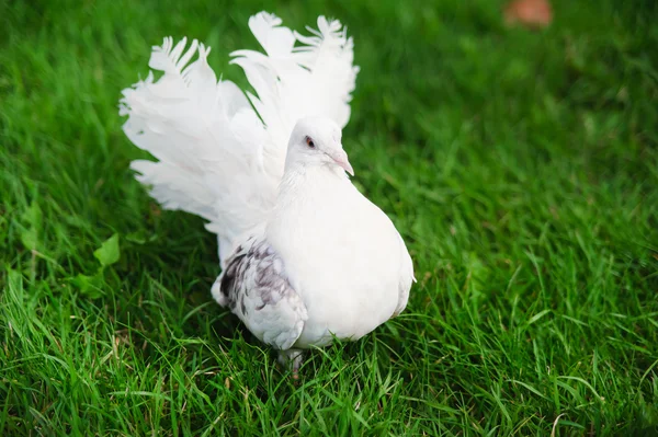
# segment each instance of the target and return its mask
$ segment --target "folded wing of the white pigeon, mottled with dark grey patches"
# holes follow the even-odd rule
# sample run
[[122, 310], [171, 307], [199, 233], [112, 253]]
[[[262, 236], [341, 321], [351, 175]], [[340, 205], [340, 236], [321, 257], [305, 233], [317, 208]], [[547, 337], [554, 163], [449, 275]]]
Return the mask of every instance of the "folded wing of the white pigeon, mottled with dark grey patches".
[[308, 319], [282, 258], [264, 239], [251, 238], [236, 250], [215, 281], [213, 296], [260, 341], [282, 350], [293, 346]]

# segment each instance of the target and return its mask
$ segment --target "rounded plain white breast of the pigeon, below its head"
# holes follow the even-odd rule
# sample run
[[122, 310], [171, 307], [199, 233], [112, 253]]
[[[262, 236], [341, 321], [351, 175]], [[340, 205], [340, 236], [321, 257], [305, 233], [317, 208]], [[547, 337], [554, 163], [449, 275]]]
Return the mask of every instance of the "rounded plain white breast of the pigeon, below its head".
[[308, 310], [296, 347], [324, 345], [332, 335], [356, 340], [388, 320], [398, 300], [393, 223], [349, 181], [327, 185], [302, 185], [307, 189], [268, 226], [268, 240]]

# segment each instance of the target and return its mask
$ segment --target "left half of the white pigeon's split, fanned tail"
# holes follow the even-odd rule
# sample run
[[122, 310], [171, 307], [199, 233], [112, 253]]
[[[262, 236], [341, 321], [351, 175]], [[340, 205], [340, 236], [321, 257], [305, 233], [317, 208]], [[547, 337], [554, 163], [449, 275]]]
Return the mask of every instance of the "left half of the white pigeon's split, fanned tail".
[[266, 133], [242, 91], [217, 81], [209, 47], [185, 44], [164, 38], [152, 48], [149, 67], [163, 74], [125, 89], [120, 114], [131, 141], [158, 160], [133, 161], [137, 179], [164, 208], [208, 220], [227, 256], [237, 235], [264, 220], [281, 172], [263, 163]]

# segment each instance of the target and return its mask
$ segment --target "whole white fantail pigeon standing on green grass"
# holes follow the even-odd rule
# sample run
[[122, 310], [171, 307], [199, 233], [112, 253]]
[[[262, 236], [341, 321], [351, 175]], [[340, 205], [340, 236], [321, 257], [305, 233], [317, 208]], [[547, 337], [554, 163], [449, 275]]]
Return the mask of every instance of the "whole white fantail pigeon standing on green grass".
[[217, 234], [213, 298], [297, 378], [306, 349], [356, 341], [402, 312], [413, 263], [350, 179], [342, 128], [359, 67], [347, 28], [319, 16], [302, 35], [268, 12], [248, 24], [264, 53], [237, 50], [230, 62], [254, 93], [217, 80], [209, 47], [166, 37], [118, 112], [156, 159], [131, 163], [137, 180]]

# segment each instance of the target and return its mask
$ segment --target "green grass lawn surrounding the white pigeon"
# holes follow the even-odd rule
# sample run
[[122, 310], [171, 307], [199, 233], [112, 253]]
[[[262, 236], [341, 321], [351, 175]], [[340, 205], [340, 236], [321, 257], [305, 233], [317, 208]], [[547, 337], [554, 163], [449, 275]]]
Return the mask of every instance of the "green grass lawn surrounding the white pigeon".
[[257, 47], [261, 2], [168, 3], [0, 0], [0, 435], [658, 435], [656, 5], [555, 0], [544, 32], [486, 0], [268, 8], [354, 35], [343, 142], [419, 279], [295, 386], [212, 301], [202, 220], [128, 170], [151, 45], [200, 38], [240, 84]]

